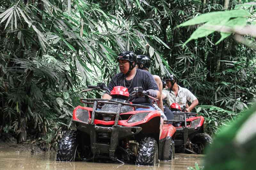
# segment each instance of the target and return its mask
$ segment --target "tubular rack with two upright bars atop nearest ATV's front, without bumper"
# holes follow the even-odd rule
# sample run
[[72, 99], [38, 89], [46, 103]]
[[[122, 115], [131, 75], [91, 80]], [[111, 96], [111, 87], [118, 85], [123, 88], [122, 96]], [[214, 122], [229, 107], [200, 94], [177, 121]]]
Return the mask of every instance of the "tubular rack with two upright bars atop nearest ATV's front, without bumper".
[[[92, 116], [91, 116], [91, 122], [90, 124], [94, 124], [94, 118], [95, 114], [106, 114], [106, 115], [116, 115], [115, 118], [115, 126], [118, 124], [119, 120], [119, 115], [121, 111], [122, 106], [131, 106], [131, 107], [139, 107], [139, 108], [149, 108], [148, 106], [143, 106], [143, 105], [137, 105], [137, 104], [131, 104], [131, 103], [125, 103], [121, 101], [115, 101], [111, 99], [80, 99], [82, 103], [85, 104], [93, 104], [92, 107]], [[93, 101], [93, 102], [92, 102]], [[113, 104], [113, 105], [118, 105], [117, 107], [117, 112], [108, 112], [108, 111], [100, 111], [97, 110], [99, 104]]]

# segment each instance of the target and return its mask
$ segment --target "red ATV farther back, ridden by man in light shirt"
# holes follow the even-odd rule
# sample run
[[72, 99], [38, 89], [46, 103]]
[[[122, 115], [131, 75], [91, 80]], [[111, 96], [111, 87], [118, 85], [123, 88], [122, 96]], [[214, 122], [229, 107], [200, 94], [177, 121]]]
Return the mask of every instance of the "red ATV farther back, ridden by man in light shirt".
[[204, 133], [204, 117], [196, 113], [188, 113], [177, 103], [172, 103], [170, 109], [174, 115], [172, 125], [176, 128], [175, 150], [177, 152], [204, 153], [206, 145], [212, 143], [212, 138]]

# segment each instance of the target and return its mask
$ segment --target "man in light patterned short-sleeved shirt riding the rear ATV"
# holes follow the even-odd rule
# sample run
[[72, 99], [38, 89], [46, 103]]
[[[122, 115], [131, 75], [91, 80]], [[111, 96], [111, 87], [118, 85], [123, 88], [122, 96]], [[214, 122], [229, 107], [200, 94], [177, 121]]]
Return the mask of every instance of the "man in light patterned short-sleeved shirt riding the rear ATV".
[[[191, 112], [191, 110], [198, 105], [196, 96], [188, 89], [177, 85], [173, 75], [164, 79], [168, 88], [162, 91], [162, 99], [166, 98], [168, 105], [178, 103], [180, 107], [186, 106], [188, 112]], [[191, 103], [190, 106], [188, 106], [188, 101]]]

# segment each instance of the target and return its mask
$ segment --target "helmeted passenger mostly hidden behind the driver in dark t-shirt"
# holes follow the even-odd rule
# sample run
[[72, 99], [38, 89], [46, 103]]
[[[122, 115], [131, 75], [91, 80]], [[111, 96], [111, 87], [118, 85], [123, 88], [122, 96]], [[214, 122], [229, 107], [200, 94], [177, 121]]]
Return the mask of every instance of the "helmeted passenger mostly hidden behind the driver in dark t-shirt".
[[[150, 58], [148, 56], [146, 56], [146, 55], [137, 55], [137, 65], [136, 65], [137, 68], [139, 68], [141, 70], [148, 71], [150, 65], [151, 65], [151, 61], [150, 61]], [[163, 89], [162, 80], [157, 75], [153, 75], [153, 78], [156, 81], [156, 85], [158, 86], [159, 92], [161, 94], [162, 89]], [[163, 106], [162, 97], [158, 98], [157, 107], [159, 107], [164, 112], [164, 114], [165, 114], [165, 116], [168, 120], [173, 119], [172, 111], [169, 108]]]

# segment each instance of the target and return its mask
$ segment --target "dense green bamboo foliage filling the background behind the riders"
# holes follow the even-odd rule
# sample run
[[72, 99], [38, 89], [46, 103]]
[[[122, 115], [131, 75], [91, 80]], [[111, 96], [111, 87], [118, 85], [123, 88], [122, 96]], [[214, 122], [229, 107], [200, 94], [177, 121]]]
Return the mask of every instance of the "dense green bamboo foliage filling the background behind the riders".
[[[108, 83], [118, 72], [116, 55], [132, 50], [152, 57], [152, 73], [174, 72], [179, 84], [196, 94], [200, 105], [196, 111], [206, 117], [214, 134], [255, 99], [253, 46], [215, 30], [203, 34], [194, 26], [199, 22], [178, 26], [247, 1], [227, 2], [3, 0], [0, 131], [19, 135], [21, 142], [26, 130], [44, 144], [54, 143], [62, 129], [70, 128], [79, 97], [100, 96], [82, 94], [85, 85]], [[249, 13], [230, 17], [238, 22], [228, 26], [255, 25], [255, 8], [246, 8]], [[211, 17], [200, 23], [225, 24], [230, 18]], [[218, 42], [221, 37], [227, 38]]]

